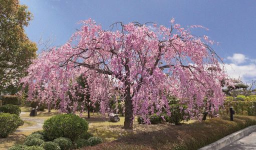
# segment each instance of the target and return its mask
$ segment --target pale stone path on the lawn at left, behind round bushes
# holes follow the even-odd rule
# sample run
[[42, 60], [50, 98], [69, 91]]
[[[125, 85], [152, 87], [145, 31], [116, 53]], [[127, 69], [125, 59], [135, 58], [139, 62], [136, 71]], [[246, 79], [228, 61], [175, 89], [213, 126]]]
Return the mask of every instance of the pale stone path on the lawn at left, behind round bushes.
[[[25, 114], [25, 113], [26, 112], [22, 111], [21, 115]], [[26, 126], [26, 127], [18, 128], [16, 130], [17, 132], [23, 132], [23, 131], [35, 130], [35, 129], [42, 129], [44, 121], [45, 121], [45, 119], [33, 118], [33, 117], [30, 117], [30, 116], [26, 116], [26, 117], [25, 116], [21, 116], [21, 119], [24, 120], [24, 121], [33, 121], [36, 124], [32, 125], [32, 126]]]

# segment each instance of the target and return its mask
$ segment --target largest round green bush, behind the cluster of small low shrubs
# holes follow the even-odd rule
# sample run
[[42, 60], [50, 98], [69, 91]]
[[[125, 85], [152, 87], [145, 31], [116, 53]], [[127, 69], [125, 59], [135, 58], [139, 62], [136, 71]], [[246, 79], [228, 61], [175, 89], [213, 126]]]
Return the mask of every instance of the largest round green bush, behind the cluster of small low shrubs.
[[67, 137], [72, 141], [88, 130], [88, 122], [76, 114], [58, 114], [45, 120], [43, 128], [49, 140]]

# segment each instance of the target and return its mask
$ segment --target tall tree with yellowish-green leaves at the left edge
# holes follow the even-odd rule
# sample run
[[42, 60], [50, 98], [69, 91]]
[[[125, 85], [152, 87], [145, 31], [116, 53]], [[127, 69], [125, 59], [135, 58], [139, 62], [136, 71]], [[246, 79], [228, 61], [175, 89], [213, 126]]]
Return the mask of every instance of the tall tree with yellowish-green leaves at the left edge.
[[37, 45], [24, 31], [31, 19], [31, 12], [19, 0], [0, 0], [0, 92], [25, 76], [36, 57]]

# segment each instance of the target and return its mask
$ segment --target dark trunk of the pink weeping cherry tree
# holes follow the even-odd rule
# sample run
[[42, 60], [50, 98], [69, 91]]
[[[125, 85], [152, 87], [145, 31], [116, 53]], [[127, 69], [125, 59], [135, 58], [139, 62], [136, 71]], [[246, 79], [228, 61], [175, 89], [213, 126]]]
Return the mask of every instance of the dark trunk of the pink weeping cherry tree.
[[125, 82], [126, 89], [125, 89], [125, 117], [124, 117], [124, 128], [125, 129], [132, 129], [133, 126], [133, 110], [132, 110], [132, 99], [130, 95], [130, 85], [129, 81]]

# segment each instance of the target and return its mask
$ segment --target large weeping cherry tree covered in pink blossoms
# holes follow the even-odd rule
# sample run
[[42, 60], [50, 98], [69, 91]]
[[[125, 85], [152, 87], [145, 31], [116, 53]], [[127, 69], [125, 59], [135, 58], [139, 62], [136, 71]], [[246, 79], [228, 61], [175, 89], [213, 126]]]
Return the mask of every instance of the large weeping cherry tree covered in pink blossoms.
[[186, 104], [190, 118], [201, 119], [203, 111], [217, 114], [223, 104], [220, 81], [226, 74], [206, 44], [213, 43], [207, 36], [193, 36], [189, 29], [174, 24], [174, 19], [170, 27], [153, 24], [154, 29], [138, 22], [114, 23], [120, 25], [117, 30], [104, 30], [91, 19], [82, 23], [67, 43], [42, 53], [30, 66], [29, 75], [23, 78], [29, 84], [30, 98], [39, 84], [47, 82], [58, 89], [66, 111], [69, 81], [90, 73], [90, 99], [101, 99], [101, 112], [109, 110], [113, 92], [109, 87], [120, 89], [125, 101], [124, 128], [133, 127], [135, 115], [147, 123], [148, 115], [163, 110], [170, 115], [166, 95]]

